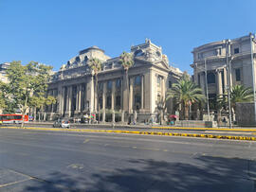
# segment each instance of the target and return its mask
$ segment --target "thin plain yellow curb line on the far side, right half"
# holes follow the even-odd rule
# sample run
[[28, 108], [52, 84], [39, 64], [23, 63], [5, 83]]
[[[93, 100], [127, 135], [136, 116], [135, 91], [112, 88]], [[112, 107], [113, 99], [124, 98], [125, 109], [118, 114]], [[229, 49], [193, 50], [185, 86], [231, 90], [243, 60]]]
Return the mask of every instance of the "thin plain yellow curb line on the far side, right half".
[[163, 130], [205, 130], [205, 131], [256, 131], [248, 129], [227, 129], [227, 128], [186, 128], [186, 127], [152, 127], [152, 129], [163, 129]]

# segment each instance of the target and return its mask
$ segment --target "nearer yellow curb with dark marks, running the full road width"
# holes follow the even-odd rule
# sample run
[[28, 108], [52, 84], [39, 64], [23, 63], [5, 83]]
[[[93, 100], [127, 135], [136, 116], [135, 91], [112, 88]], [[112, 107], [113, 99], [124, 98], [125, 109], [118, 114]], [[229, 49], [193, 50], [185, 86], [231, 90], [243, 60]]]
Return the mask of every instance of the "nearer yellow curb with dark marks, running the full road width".
[[19, 127], [0, 127], [2, 129], [17, 129], [17, 130], [36, 130], [36, 131], [74, 131], [74, 132], [109, 132], [109, 133], [130, 133], [130, 134], [147, 134], [147, 135], [162, 135], [162, 136], [185, 136], [185, 137], [201, 137], [210, 139], [229, 139], [256, 141], [256, 137], [247, 136], [229, 136], [229, 135], [213, 135], [213, 134], [197, 134], [197, 133], [180, 133], [180, 132], [161, 132], [161, 131], [120, 131], [120, 130], [81, 130], [81, 129], [61, 129], [61, 128], [19, 128]]

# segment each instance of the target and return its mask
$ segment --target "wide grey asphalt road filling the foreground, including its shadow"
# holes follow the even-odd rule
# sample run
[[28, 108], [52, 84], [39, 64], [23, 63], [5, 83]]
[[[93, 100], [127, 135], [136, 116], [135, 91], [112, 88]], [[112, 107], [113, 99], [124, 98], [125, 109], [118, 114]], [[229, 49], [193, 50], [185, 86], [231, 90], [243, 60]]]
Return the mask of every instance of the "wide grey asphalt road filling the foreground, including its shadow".
[[0, 129], [0, 191], [256, 191], [256, 142]]

